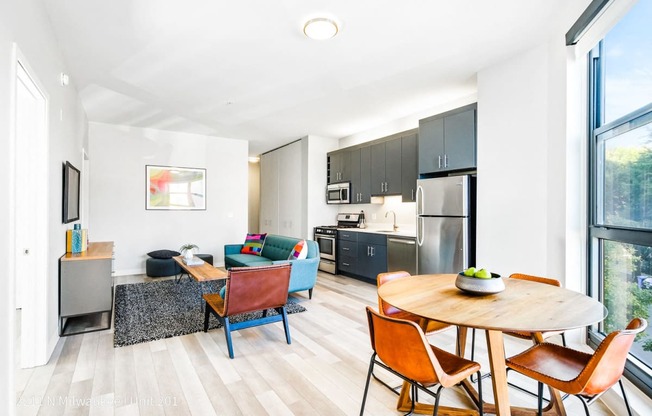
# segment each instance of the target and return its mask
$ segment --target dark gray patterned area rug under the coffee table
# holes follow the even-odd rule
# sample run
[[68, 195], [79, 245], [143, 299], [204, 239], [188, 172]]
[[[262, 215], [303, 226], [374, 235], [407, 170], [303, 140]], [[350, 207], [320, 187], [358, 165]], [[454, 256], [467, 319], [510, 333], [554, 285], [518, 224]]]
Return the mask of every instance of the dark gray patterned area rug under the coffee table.
[[[204, 286], [203, 293], [216, 293], [224, 285], [224, 280], [214, 280], [201, 285]], [[201, 295], [200, 283], [189, 279], [183, 279], [180, 283], [164, 280], [116, 286], [113, 346], [124, 347], [203, 331]], [[304, 312], [306, 308], [290, 298], [286, 310], [291, 314]], [[276, 315], [273, 309], [267, 313]], [[262, 312], [246, 313], [232, 317], [231, 322], [261, 316]], [[209, 329], [222, 326], [212, 315], [209, 322]]]

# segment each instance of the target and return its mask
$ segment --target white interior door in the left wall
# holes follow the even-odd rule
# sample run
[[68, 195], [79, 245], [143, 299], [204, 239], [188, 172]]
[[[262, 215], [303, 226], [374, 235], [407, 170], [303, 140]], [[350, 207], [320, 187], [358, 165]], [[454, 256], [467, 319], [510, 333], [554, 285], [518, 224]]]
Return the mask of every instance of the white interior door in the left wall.
[[21, 308], [20, 363], [47, 363], [48, 142], [47, 98], [16, 64], [14, 287]]

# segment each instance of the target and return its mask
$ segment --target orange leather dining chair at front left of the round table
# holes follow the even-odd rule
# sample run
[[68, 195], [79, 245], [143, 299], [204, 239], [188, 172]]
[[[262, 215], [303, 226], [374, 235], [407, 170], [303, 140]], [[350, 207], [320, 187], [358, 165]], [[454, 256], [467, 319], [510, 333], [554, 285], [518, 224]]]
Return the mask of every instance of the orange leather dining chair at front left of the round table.
[[[376, 365], [410, 383], [410, 413], [414, 411], [417, 390], [433, 396], [433, 415], [438, 413], [440, 393], [444, 387], [452, 387], [471, 374], [480, 372], [480, 364], [430, 345], [421, 327], [413, 321], [381, 315], [369, 306], [367, 320], [373, 354], [369, 362], [360, 416], [364, 414], [369, 382]], [[437, 385], [439, 387], [436, 391], [432, 391], [431, 388]], [[479, 402], [476, 405], [482, 416], [482, 386], [478, 386], [478, 394]]]

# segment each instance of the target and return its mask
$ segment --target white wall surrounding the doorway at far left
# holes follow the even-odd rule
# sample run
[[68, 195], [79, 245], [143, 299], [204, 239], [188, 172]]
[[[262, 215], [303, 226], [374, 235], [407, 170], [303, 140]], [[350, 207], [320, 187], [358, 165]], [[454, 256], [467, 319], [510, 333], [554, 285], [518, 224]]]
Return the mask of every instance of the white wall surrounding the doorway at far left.
[[[61, 87], [59, 74], [67, 72], [58, 45], [51, 30], [49, 19], [42, 2], [37, 0], [6, 0], [0, 2], [0, 137], [3, 151], [0, 152], [0, 189], [4, 192], [4, 204], [0, 204], [0, 252], [9, 260], [13, 250], [13, 138], [12, 97], [15, 76], [13, 43], [16, 43], [30, 68], [48, 96], [48, 235], [47, 276], [39, 277], [44, 284], [46, 304], [37, 312], [39, 322], [38, 338], [45, 339], [37, 346], [45, 360], [50, 356], [58, 341], [58, 258], [65, 252], [66, 226], [61, 223], [61, 163], [69, 160], [81, 166], [81, 148], [85, 140], [85, 114], [77, 98], [74, 79], [71, 85]], [[62, 117], [60, 117], [62, 114]], [[85, 196], [82, 195], [82, 198]], [[0, 295], [0, 336], [5, 342], [0, 345], [0, 374], [8, 378], [0, 388], [0, 413], [10, 414], [15, 403], [13, 384], [13, 339], [14, 303], [13, 275], [10, 261], [0, 262], [0, 274], [5, 276], [5, 288]]]

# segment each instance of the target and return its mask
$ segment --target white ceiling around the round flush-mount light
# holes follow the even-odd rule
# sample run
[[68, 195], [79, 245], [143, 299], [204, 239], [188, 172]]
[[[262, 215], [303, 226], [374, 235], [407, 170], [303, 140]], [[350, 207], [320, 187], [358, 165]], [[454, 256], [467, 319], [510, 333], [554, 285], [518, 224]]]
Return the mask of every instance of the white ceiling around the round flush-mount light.
[[[43, 0], [90, 121], [250, 141], [345, 137], [476, 91], [589, 0]], [[314, 41], [303, 22], [334, 17]]]

